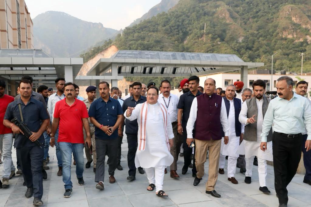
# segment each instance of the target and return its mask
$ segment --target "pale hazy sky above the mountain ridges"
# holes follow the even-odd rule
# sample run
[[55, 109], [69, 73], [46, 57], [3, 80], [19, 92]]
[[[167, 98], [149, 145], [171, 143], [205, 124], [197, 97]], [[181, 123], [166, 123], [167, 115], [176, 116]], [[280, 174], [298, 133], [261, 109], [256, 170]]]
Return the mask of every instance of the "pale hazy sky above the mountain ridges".
[[31, 18], [45, 11], [63, 11], [84, 21], [120, 30], [161, 0], [25, 0]]

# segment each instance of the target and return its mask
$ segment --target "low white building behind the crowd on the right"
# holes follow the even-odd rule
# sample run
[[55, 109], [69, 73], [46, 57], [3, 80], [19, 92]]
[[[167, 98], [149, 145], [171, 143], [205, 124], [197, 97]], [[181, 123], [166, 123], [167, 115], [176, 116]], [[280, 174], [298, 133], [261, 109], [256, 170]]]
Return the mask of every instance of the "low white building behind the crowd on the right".
[[[294, 85], [296, 85], [297, 82], [299, 82], [299, 80], [296, 78], [297, 76], [304, 79], [304, 81], [311, 83], [311, 76], [307, 76], [307, 75], [290, 75], [290, 74], [273, 74], [272, 75], [272, 81], [273, 81], [273, 85], [272, 85], [272, 91], [276, 91], [276, 80], [281, 77], [281, 76], [290, 76], [293, 81], [294, 81]], [[200, 85], [203, 86], [204, 85], [204, 81], [207, 78], [212, 78], [216, 81], [216, 87], [220, 87], [223, 90], [226, 89], [226, 87], [230, 84], [233, 84], [235, 81], [240, 81], [241, 80], [241, 75], [240, 73], [217, 73], [217, 74], [211, 74], [211, 75], [204, 75], [204, 76], [199, 76], [200, 77]], [[244, 88], [251, 88], [253, 86], [253, 81], [256, 81], [257, 79], [261, 79], [263, 81], [266, 82], [266, 90], [270, 91], [270, 82], [271, 82], [271, 74], [253, 74], [253, 73], [249, 73], [247, 76], [247, 81], [244, 81]], [[310, 88], [308, 88], [308, 97], [310, 97]]]

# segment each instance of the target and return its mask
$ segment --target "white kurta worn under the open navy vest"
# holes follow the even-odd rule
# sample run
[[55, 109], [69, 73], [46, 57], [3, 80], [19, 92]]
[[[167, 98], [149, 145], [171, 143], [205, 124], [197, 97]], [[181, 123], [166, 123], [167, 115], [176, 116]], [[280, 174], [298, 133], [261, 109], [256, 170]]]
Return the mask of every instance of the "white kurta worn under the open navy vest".
[[239, 154], [244, 154], [239, 152], [240, 137], [235, 134], [235, 112], [234, 112], [234, 101], [230, 101], [229, 109], [229, 142], [227, 145], [223, 145], [222, 154], [231, 157], [239, 157]]

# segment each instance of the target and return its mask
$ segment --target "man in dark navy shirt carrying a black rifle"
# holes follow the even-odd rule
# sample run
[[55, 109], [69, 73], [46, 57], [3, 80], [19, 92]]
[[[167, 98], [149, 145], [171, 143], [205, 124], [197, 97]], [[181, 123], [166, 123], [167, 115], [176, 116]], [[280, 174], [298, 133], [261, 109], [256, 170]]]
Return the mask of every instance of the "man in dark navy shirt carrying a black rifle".
[[[49, 115], [44, 105], [31, 97], [31, 83], [29, 80], [21, 80], [19, 92], [21, 97], [7, 107], [4, 115], [4, 126], [11, 128], [16, 134], [14, 147], [16, 148], [17, 158], [21, 162], [23, 177], [27, 186], [26, 198], [34, 195], [33, 205], [43, 205], [41, 200], [43, 195], [42, 185], [42, 160], [44, 155], [43, 132], [49, 123]], [[17, 118], [18, 122], [23, 122], [31, 131], [27, 138], [27, 133], [18, 127], [17, 122], [11, 122]], [[42, 124], [40, 124], [42, 122]], [[17, 124], [17, 125], [16, 125]], [[26, 134], [25, 134], [26, 133]], [[40, 146], [38, 146], [38, 142]]]

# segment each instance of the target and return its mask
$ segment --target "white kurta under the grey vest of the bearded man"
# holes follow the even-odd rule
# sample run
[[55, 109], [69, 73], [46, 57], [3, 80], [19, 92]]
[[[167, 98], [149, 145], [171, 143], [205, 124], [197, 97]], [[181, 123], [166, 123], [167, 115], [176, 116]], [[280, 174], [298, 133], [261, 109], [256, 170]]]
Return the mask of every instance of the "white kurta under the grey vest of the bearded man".
[[[257, 117], [257, 141], [247, 141], [243, 140], [244, 142], [244, 148], [245, 148], [245, 158], [249, 159], [252, 156], [257, 156], [258, 158], [273, 161], [273, 155], [272, 155], [272, 141], [267, 142], [267, 150], [262, 151], [260, 150], [260, 144], [261, 144], [261, 133], [262, 133], [262, 122], [263, 122], [263, 115], [262, 115], [262, 104], [263, 99], [258, 100], [256, 99], [256, 104], [258, 108], [258, 117]], [[242, 124], [247, 124], [247, 104], [244, 103], [241, 112], [239, 115], [239, 121]], [[250, 117], [249, 117], [250, 118]]]

